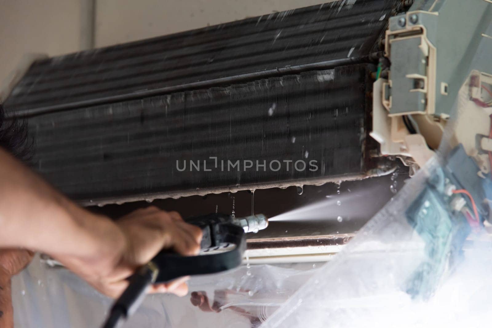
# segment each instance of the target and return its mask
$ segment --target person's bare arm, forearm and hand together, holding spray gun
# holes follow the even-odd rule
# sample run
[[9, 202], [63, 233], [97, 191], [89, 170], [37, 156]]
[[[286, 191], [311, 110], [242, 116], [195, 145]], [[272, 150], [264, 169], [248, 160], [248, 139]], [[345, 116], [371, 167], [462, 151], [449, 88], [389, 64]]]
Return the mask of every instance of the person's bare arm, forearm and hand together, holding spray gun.
[[[198, 227], [156, 207], [116, 222], [92, 214], [0, 148], [0, 248], [47, 253], [102, 293], [118, 297], [125, 279], [162, 248], [192, 255], [200, 240]], [[182, 283], [154, 287], [170, 288], [183, 294]]]

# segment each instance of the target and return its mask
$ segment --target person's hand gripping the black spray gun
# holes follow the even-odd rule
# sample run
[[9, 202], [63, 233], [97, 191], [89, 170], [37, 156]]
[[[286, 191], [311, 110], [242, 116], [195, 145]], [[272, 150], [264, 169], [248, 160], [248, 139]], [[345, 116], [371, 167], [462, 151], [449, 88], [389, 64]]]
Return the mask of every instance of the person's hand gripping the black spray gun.
[[[161, 249], [171, 248], [182, 255], [196, 255], [202, 239], [200, 228], [185, 223], [176, 212], [161, 211], [155, 206], [136, 210], [117, 220], [114, 231], [108, 233], [114, 234], [108, 239], [117, 241], [112, 243], [114, 251], [109, 255], [101, 258], [54, 257], [112, 298], [119, 297], [128, 286], [126, 278]], [[182, 277], [167, 284], [157, 284], [151, 287], [150, 292], [184, 296], [188, 292], [186, 280], [187, 277]]]

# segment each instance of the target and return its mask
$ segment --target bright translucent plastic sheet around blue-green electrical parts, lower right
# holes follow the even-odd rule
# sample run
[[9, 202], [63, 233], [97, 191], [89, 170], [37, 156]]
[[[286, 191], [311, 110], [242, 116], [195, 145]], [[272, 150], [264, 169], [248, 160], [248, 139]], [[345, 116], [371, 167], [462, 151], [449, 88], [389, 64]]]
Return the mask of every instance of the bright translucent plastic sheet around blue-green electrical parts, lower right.
[[[427, 168], [434, 172], [436, 162]], [[429, 300], [407, 293], [426, 260], [424, 240], [404, 211], [422, 191], [425, 171], [407, 182], [333, 260], [262, 328], [479, 327], [490, 320], [492, 249], [467, 245], [464, 258], [442, 272]]]

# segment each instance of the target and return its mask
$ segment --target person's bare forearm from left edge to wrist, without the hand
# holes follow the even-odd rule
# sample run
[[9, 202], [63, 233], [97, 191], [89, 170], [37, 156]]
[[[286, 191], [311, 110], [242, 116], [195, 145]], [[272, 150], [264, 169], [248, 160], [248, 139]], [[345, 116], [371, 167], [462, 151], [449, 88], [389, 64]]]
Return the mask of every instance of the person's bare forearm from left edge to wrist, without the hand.
[[0, 227], [1, 248], [110, 256], [125, 243], [114, 222], [78, 207], [1, 148]]

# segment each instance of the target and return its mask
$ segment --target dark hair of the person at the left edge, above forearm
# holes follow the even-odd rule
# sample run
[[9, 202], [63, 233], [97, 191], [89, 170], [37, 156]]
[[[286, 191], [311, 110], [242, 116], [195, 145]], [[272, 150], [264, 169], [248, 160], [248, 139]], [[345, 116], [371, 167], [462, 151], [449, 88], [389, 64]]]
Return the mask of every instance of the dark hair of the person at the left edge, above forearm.
[[28, 134], [27, 122], [6, 118], [0, 104], [0, 147], [20, 160], [29, 161], [33, 156], [33, 146], [33, 140]]

